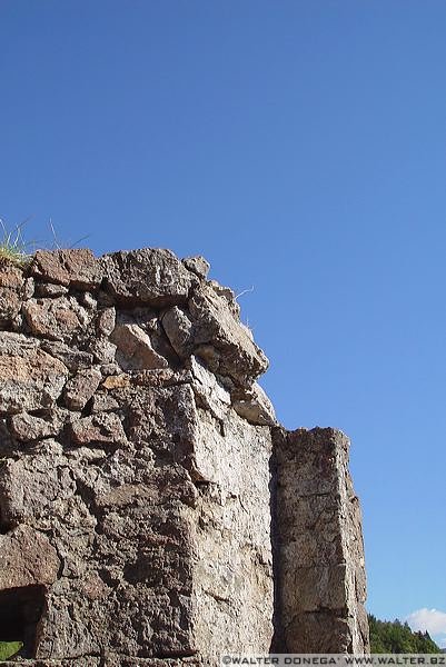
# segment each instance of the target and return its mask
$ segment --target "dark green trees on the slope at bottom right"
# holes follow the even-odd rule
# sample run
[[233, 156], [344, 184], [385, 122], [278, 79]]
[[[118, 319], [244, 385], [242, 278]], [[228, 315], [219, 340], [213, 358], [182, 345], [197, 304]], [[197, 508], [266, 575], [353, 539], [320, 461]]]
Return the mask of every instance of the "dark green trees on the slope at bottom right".
[[442, 649], [435, 644], [428, 633], [413, 633], [407, 623], [400, 620], [378, 620], [368, 615], [370, 628], [370, 653], [414, 653], [437, 654]]

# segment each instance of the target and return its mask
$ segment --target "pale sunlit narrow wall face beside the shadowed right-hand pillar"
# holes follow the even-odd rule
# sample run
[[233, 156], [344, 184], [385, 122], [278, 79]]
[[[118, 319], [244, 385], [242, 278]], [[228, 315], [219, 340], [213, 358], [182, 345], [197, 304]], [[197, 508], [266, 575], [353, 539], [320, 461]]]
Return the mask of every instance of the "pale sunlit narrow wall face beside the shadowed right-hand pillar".
[[269, 653], [271, 644], [271, 440], [268, 428], [234, 412], [221, 429], [199, 410], [198, 428], [196, 465], [207, 484], [200, 485], [196, 535], [196, 633], [217, 664], [225, 653]]

